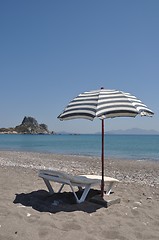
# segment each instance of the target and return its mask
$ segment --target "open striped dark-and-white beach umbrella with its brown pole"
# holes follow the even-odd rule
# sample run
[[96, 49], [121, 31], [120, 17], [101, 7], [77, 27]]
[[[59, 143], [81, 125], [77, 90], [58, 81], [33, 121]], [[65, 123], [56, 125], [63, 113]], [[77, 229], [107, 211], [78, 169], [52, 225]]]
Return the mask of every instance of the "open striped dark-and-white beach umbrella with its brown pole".
[[58, 116], [60, 120], [95, 117], [102, 124], [102, 180], [101, 195], [104, 195], [104, 119], [115, 117], [152, 116], [154, 113], [139, 99], [130, 93], [104, 89], [84, 92], [75, 97]]

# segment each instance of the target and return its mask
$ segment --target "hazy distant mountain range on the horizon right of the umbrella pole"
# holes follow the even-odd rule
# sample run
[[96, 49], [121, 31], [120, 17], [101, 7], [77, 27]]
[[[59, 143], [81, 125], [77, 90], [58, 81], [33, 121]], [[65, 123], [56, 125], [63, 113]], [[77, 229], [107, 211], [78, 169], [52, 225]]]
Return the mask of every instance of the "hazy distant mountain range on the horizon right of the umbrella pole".
[[141, 129], [141, 128], [131, 128], [131, 129], [126, 129], [126, 130], [112, 130], [112, 131], [107, 131], [107, 134], [140, 134], [140, 135], [159, 135], [159, 132], [156, 130], [146, 130], [146, 129]]

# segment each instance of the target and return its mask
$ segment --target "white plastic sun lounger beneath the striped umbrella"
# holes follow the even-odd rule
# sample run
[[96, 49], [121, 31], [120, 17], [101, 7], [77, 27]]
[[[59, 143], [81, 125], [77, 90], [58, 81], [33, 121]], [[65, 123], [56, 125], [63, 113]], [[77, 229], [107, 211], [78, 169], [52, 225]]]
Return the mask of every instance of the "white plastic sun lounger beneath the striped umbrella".
[[[91, 187], [101, 184], [101, 176], [98, 176], [98, 175], [73, 176], [70, 174], [66, 174], [64, 172], [54, 171], [54, 170], [40, 170], [39, 177], [41, 177], [44, 180], [50, 194], [55, 193], [53, 187], [50, 184], [50, 181], [61, 183], [61, 187], [59, 188], [58, 193], [61, 192], [65, 184], [69, 185], [75, 196], [77, 203], [81, 203], [85, 201]], [[109, 182], [109, 187], [107, 192], [107, 194], [109, 195], [111, 192], [112, 185], [115, 182], [118, 182], [118, 180], [115, 178], [105, 177], [104, 181]], [[83, 188], [84, 190], [80, 198], [78, 198], [77, 194], [74, 191], [73, 187], [75, 186], [78, 187], [79, 189]]]

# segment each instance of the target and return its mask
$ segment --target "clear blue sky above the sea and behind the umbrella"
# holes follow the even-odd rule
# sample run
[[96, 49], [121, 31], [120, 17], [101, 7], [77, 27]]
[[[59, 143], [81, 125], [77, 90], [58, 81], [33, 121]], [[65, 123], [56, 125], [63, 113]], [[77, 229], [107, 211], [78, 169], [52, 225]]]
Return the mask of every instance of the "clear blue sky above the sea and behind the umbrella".
[[56, 132], [98, 132], [98, 119], [57, 116], [79, 93], [104, 87], [155, 112], [105, 120], [106, 131], [159, 131], [158, 0], [1, 0], [0, 31], [0, 127], [32, 116]]

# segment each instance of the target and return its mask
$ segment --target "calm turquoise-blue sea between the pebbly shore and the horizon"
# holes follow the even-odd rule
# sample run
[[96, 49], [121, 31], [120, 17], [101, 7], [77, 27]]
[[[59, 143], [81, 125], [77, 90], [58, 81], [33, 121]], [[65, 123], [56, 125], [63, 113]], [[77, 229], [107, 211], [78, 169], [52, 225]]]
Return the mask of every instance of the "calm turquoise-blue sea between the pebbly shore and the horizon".
[[[0, 134], [0, 151], [101, 156], [100, 134]], [[106, 159], [159, 161], [159, 135], [105, 134]]]

